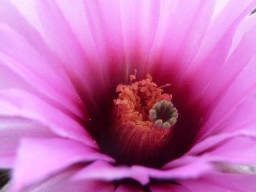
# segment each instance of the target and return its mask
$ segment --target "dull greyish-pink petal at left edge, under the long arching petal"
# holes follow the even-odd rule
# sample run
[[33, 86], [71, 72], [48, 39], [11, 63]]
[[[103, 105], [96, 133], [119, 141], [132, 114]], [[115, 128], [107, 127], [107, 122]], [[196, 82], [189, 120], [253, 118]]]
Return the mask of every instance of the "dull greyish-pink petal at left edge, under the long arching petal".
[[0, 122], [1, 168], [12, 168], [22, 137], [55, 137], [48, 127], [32, 120], [0, 116]]

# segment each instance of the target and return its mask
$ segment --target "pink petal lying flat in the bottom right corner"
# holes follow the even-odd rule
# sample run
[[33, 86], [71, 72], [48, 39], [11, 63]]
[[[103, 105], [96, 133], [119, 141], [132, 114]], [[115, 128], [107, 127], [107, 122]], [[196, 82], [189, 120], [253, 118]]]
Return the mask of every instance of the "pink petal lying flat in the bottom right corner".
[[215, 173], [197, 180], [180, 180], [179, 183], [193, 192], [252, 192], [256, 188], [255, 179], [255, 175]]

